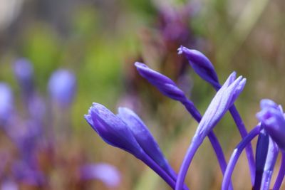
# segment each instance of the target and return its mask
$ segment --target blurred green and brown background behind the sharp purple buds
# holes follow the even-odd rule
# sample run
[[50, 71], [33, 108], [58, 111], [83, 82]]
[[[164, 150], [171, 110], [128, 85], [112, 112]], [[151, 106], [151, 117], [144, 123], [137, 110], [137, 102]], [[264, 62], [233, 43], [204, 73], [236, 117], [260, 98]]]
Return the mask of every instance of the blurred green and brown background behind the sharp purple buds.
[[[214, 90], [177, 55], [177, 48], [202, 51], [221, 81], [236, 70], [247, 78], [237, 107], [250, 130], [262, 98], [285, 105], [284, 18], [282, 0], [0, 0], [0, 81], [13, 94], [11, 114], [1, 122], [1, 189], [169, 189], [138, 159], [105, 144], [83, 115], [92, 102], [113, 112], [130, 107], [178, 171], [197, 123], [179, 102], [141, 78], [133, 63], [142, 61], [175, 80], [202, 113]], [[17, 73], [16, 64], [22, 62], [30, 66], [20, 66]], [[53, 95], [56, 70], [68, 70], [74, 80], [63, 97], [68, 102]], [[28, 85], [21, 73], [30, 77]], [[11, 115], [13, 122], [6, 121]], [[31, 140], [30, 131], [36, 139]], [[229, 159], [240, 141], [232, 118], [227, 114], [214, 132]], [[27, 164], [31, 160], [39, 163], [36, 169]], [[113, 177], [82, 179], [85, 164], [103, 162], [110, 164]], [[278, 170], [279, 162], [272, 181]], [[118, 178], [118, 183], [108, 184], [108, 178]], [[244, 154], [232, 179], [237, 189], [251, 186]], [[219, 189], [221, 183], [217, 159], [205, 140], [187, 184], [190, 189]]]

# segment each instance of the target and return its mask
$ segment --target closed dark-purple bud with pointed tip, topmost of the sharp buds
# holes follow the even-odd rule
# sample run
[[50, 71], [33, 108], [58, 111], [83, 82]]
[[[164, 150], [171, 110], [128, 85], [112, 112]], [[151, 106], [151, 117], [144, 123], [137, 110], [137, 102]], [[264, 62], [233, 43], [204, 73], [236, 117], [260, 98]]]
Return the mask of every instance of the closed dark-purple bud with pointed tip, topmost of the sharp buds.
[[192, 68], [202, 79], [213, 85], [214, 88], [220, 87], [214, 66], [203, 53], [180, 46], [178, 54], [183, 54], [187, 58]]

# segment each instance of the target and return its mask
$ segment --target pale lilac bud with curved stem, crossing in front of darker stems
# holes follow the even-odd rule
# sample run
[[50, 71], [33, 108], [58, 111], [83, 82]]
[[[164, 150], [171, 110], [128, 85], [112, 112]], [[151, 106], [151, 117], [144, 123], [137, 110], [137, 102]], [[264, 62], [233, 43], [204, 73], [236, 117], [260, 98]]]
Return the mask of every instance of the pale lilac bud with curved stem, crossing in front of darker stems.
[[204, 113], [201, 122], [199, 122], [190, 147], [187, 150], [185, 159], [180, 167], [175, 189], [182, 189], [182, 184], [185, 181], [187, 170], [195, 152], [199, 148], [200, 144], [202, 144], [207, 134], [209, 134], [214, 126], [217, 125], [217, 122], [221, 120], [227, 110], [229, 110], [229, 107], [234, 104], [234, 101], [237, 99], [239, 94], [242, 93], [245, 83], [245, 78], [239, 76], [239, 78], [236, 79], [236, 73], [232, 73], [212, 99], [212, 102]]

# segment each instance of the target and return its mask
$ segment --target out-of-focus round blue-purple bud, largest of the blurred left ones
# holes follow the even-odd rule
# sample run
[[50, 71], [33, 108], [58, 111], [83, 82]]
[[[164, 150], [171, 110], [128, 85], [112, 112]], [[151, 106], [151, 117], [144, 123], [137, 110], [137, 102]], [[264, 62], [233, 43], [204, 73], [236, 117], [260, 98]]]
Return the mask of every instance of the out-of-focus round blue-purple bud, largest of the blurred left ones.
[[59, 105], [68, 106], [76, 93], [76, 76], [68, 70], [56, 70], [48, 82], [48, 90]]

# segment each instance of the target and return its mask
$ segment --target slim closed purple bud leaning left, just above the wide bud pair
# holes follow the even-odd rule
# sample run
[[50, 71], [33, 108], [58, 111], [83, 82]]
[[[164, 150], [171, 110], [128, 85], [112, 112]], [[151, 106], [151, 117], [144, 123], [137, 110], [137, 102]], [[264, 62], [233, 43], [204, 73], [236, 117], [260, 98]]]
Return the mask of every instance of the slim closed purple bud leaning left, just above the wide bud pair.
[[167, 78], [167, 76], [148, 68], [147, 65], [143, 63], [136, 62], [135, 66], [138, 69], [138, 73], [160, 90], [163, 95], [178, 101], [186, 99], [182, 90], [177, 88], [176, 84], [170, 78]]

